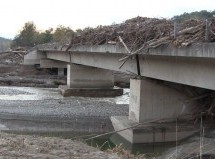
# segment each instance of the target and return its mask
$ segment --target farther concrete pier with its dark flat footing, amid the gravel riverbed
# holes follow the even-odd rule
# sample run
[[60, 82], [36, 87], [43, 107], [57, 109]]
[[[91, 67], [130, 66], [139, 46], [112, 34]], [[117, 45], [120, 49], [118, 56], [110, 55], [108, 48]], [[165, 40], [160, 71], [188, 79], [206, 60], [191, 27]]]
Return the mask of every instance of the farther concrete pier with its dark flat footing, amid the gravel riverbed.
[[67, 65], [67, 86], [59, 87], [63, 96], [113, 97], [123, 94], [114, 88], [110, 70], [77, 64]]

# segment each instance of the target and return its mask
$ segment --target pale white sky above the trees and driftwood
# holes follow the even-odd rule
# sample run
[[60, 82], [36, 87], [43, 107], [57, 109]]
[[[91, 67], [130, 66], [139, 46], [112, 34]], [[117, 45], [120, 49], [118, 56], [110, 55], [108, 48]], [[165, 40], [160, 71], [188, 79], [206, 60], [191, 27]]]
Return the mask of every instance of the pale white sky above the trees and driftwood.
[[1, 0], [0, 37], [13, 39], [29, 21], [40, 31], [58, 25], [76, 30], [137, 16], [171, 18], [201, 10], [215, 10], [215, 0]]

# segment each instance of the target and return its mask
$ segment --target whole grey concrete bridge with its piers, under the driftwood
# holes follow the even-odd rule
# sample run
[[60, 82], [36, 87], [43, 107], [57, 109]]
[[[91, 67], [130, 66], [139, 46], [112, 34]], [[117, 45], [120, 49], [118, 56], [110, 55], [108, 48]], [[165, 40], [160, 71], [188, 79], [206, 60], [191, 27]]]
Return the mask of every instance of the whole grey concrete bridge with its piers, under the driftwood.
[[[189, 119], [197, 103], [185, 101], [195, 97], [193, 90], [215, 90], [215, 43], [140, 51], [122, 67], [119, 59], [129, 53], [115, 45], [76, 46], [69, 51], [38, 50], [36, 55], [37, 63], [44, 68], [67, 65], [67, 86], [72, 89], [111, 89], [110, 70], [140, 75], [141, 78], [130, 81], [129, 117], [111, 118], [116, 130], [138, 125], [119, 132], [132, 143], [162, 142], [163, 129], [154, 122]], [[152, 131], [143, 128], [146, 122], [147, 127], [156, 132], [154, 136]], [[165, 140], [174, 141], [175, 132], [165, 124], [162, 127], [166, 129]], [[181, 129], [178, 140], [195, 131], [195, 128]]]

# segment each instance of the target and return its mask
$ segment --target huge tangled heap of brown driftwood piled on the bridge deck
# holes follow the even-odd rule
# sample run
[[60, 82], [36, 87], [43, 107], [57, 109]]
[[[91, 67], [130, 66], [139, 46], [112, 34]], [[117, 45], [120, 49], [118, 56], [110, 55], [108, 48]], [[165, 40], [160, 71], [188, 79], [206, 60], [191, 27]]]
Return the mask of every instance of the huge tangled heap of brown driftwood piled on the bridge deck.
[[214, 42], [215, 19], [175, 23], [167, 19], [136, 17], [121, 24], [77, 30], [69, 46], [116, 44], [120, 43], [119, 36], [130, 50], [156, 48], [163, 44], [180, 47], [194, 42]]

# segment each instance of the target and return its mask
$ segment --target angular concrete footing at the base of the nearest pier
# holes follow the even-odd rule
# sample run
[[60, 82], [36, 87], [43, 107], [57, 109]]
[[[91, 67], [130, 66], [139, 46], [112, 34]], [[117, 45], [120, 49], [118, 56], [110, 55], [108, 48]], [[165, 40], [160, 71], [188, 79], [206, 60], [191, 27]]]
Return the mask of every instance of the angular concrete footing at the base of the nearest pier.
[[[118, 132], [130, 143], [165, 143], [175, 142], [176, 132], [175, 123], [150, 122], [136, 126], [138, 122], [129, 120], [126, 116], [112, 116], [111, 122], [114, 130], [123, 130]], [[177, 140], [186, 139], [199, 131], [199, 127], [193, 124], [179, 124], [177, 132]], [[129, 128], [132, 127], [132, 128]], [[129, 129], [126, 129], [129, 128]]]

